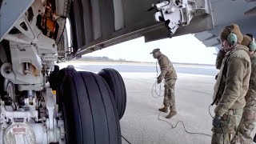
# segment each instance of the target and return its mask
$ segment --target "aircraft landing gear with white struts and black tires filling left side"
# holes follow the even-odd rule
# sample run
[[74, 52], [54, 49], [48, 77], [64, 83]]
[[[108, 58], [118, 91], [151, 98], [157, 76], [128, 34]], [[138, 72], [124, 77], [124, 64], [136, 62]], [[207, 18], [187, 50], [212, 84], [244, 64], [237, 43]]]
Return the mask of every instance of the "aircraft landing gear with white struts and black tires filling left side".
[[0, 1], [0, 18], [8, 19], [0, 33], [0, 144], [120, 144], [126, 100], [120, 114], [115, 98], [126, 99], [126, 91], [118, 72], [110, 70], [119, 80], [108, 81], [55, 65], [72, 57], [65, 30], [71, 0], [15, 2]]

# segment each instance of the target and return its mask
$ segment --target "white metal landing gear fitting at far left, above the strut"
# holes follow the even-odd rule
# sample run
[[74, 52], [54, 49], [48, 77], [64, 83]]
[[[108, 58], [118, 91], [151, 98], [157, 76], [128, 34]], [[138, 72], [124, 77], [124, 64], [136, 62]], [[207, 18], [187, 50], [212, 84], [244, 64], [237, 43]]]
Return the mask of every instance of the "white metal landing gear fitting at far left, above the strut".
[[[42, 60], [38, 56], [37, 47], [33, 45], [10, 42], [12, 62], [1, 67], [3, 77], [10, 79], [14, 84], [42, 83]], [[24, 63], [30, 63], [31, 74], [23, 73]]]

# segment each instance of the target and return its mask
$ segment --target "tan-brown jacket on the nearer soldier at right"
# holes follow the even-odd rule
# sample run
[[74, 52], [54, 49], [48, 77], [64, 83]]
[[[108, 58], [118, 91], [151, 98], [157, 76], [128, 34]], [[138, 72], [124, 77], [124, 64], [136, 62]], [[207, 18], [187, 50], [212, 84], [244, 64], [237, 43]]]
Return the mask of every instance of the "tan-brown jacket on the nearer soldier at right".
[[[214, 112], [222, 117], [229, 109], [242, 109], [249, 89], [251, 62], [248, 47], [238, 45], [225, 55], [214, 86]], [[215, 99], [216, 98], [216, 99]]]

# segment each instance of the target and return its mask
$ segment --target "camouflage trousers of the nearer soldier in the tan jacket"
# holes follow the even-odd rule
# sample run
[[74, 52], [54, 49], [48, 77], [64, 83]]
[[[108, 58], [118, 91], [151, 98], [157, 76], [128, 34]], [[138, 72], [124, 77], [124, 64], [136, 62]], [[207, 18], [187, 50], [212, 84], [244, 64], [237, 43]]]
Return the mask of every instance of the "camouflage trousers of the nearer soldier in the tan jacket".
[[226, 114], [222, 116], [221, 122], [222, 127], [212, 128], [213, 135], [211, 138], [212, 144], [230, 144], [234, 138], [238, 125], [242, 118], [242, 109], [239, 110], [228, 110]]

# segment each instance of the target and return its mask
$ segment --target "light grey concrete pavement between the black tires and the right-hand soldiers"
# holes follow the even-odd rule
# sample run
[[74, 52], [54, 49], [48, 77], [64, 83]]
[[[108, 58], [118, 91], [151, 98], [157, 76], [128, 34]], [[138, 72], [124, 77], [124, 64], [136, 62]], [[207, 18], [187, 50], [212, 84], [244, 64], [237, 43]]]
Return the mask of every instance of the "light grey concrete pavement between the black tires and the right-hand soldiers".
[[[212, 101], [214, 77], [195, 74], [178, 74], [176, 84], [176, 105], [178, 114], [166, 119], [158, 108], [162, 106], [162, 97], [153, 98], [151, 89], [155, 74], [122, 73], [126, 83], [127, 106], [121, 122], [122, 136], [133, 144], [206, 144], [210, 136], [187, 134], [178, 121], [184, 122], [186, 130], [211, 134], [211, 120], [208, 107]], [[214, 108], [211, 108], [213, 113]], [[170, 122], [170, 123], [168, 123]], [[123, 140], [123, 143], [126, 144]]]

